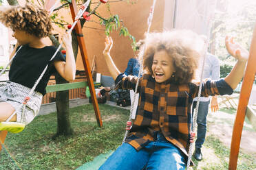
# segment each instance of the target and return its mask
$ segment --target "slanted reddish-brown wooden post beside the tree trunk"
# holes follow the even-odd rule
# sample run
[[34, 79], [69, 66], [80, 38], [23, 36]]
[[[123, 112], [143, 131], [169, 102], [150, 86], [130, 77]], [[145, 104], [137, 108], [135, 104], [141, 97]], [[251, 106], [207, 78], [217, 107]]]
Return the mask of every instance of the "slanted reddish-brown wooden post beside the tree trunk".
[[[72, 3], [70, 3], [70, 11], [72, 14], [72, 19], [74, 21], [75, 16], [77, 14], [77, 8], [76, 8], [76, 1], [72, 0]], [[81, 51], [81, 56], [82, 56], [82, 60], [83, 60], [83, 66], [85, 68], [85, 74], [87, 76], [87, 81], [88, 81], [88, 85], [89, 85], [89, 90], [91, 93], [91, 97], [92, 97], [92, 104], [94, 105], [94, 111], [95, 111], [95, 115], [96, 115], [96, 119], [98, 122], [98, 125], [100, 127], [103, 126], [103, 123], [101, 121], [101, 117], [100, 117], [100, 110], [98, 109], [98, 101], [96, 98], [96, 93], [95, 93], [95, 89], [94, 89], [94, 81], [92, 80], [92, 73], [91, 73], [91, 69], [89, 66], [89, 61], [88, 61], [88, 56], [87, 56], [87, 51], [86, 51], [86, 47], [85, 47], [85, 41], [83, 39], [83, 32], [82, 32], [82, 27], [81, 27], [81, 22], [78, 21], [76, 23], [76, 26], [74, 27], [76, 34], [77, 34], [77, 39], [78, 39], [78, 45], [80, 47], [80, 51]]]

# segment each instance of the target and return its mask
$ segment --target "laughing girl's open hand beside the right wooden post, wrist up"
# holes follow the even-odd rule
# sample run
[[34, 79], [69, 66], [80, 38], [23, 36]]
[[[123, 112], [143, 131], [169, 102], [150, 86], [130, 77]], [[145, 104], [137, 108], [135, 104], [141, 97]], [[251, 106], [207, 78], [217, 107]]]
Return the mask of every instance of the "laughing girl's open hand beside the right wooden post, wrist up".
[[225, 39], [226, 50], [231, 54], [234, 58], [239, 61], [247, 61], [249, 57], [249, 53], [246, 49], [244, 49], [237, 42], [234, 42], [233, 37], [229, 38], [226, 36]]

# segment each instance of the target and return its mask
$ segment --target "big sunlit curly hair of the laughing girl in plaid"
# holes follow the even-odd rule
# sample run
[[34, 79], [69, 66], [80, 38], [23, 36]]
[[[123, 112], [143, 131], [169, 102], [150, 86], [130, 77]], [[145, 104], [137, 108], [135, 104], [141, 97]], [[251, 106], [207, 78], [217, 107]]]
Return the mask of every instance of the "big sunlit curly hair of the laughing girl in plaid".
[[[157, 51], [165, 50], [173, 59], [175, 69], [173, 81], [176, 84], [186, 84], [195, 78], [195, 70], [204, 48], [204, 40], [192, 31], [186, 29], [147, 34], [145, 38], [143, 66], [146, 73], [153, 74], [151, 69], [153, 56]], [[143, 49], [143, 48], [142, 48]]]

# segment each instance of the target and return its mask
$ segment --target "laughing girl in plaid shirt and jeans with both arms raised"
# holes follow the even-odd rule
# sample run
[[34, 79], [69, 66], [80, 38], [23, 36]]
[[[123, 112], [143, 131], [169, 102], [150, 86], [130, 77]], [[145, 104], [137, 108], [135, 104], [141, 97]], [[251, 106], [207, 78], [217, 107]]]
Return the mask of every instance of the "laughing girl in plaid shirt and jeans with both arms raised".
[[[136, 119], [125, 143], [100, 170], [185, 169], [191, 104], [199, 90], [199, 84], [192, 80], [203, 56], [204, 40], [188, 30], [148, 34], [142, 61], [145, 72], [140, 78], [118, 71], [110, 56], [112, 45], [111, 37], [107, 37], [103, 55], [116, 88], [135, 90], [138, 80], [140, 98]], [[248, 51], [232, 38], [226, 38], [226, 49], [237, 59], [236, 65], [222, 80], [205, 80], [202, 96], [231, 95], [242, 79]]]

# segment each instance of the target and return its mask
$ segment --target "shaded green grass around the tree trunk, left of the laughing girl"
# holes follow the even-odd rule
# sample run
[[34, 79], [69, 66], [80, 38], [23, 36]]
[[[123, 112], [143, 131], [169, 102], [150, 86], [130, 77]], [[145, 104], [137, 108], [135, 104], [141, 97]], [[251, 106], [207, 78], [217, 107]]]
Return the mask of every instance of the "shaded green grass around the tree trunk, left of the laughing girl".
[[[74, 135], [56, 133], [56, 112], [36, 117], [19, 134], [9, 133], [6, 146], [22, 169], [76, 169], [122, 143], [129, 110], [100, 105], [103, 127], [98, 127], [92, 105], [70, 109]], [[19, 169], [10, 155], [0, 153], [0, 169]]]

